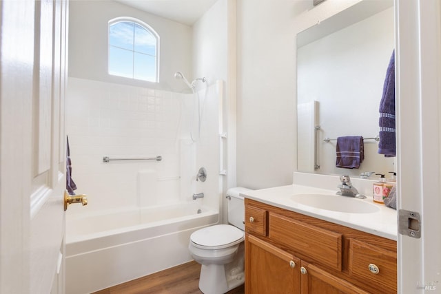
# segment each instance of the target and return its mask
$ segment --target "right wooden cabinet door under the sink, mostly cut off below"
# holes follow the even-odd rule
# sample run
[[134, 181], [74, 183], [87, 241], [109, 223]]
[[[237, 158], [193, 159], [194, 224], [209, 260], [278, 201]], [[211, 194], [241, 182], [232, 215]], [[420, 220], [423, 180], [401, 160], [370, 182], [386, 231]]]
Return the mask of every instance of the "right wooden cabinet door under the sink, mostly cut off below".
[[302, 294], [368, 294], [357, 286], [303, 260], [300, 272], [302, 273]]

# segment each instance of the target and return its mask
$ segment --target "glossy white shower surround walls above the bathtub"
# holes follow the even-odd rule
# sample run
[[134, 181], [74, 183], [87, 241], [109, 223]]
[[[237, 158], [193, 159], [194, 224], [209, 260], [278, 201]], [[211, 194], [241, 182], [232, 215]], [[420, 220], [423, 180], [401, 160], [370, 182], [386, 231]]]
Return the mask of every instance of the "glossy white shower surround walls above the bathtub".
[[[201, 191], [207, 196], [204, 204], [218, 207], [216, 131], [221, 87], [223, 83], [215, 83], [194, 95], [69, 78], [65, 122], [72, 178], [76, 192], [87, 193], [90, 200], [87, 207], [72, 206], [69, 212], [189, 201], [192, 193]], [[197, 143], [190, 138], [190, 129]], [[103, 156], [162, 156], [163, 160], [105, 163]], [[209, 172], [203, 183], [195, 181], [199, 157]]]

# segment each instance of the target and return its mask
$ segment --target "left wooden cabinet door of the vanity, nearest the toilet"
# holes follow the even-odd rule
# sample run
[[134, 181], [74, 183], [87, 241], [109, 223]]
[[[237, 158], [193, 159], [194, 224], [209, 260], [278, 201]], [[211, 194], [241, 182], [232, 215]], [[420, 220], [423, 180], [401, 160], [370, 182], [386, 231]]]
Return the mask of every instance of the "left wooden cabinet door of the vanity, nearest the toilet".
[[300, 293], [300, 260], [247, 234], [245, 293]]

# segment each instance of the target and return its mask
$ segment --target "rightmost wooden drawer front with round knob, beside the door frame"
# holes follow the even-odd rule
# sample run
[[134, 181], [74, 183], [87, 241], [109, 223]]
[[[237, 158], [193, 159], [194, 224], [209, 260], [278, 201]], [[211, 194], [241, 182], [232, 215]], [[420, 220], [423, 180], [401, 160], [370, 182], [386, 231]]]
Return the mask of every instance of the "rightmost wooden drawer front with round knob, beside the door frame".
[[[378, 273], [375, 273], [376, 269]], [[375, 284], [382, 293], [395, 293], [397, 289], [396, 252], [378, 249], [371, 244], [351, 239], [349, 273], [366, 284]]]

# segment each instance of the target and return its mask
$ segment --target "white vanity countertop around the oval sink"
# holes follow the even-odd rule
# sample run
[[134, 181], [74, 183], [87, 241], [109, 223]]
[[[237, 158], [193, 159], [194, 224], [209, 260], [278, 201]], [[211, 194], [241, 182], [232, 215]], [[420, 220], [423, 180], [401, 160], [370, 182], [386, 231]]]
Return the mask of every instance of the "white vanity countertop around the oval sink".
[[366, 199], [356, 200], [366, 201], [369, 202], [369, 204], [378, 205], [378, 211], [373, 213], [346, 213], [309, 207], [291, 199], [291, 196], [301, 193], [334, 195], [336, 190], [319, 189], [316, 187], [302, 185], [288, 185], [283, 187], [246, 191], [240, 193], [240, 195], [244, 196], [245, 198], [273, 205], [275, 207], [302, 213], [306, 216], [312, 216], [314, 218], [319, 218], [320, 220], [327, 220], [329, 222], [341, 224], [345, 227], [350, 227], [352, 229], [357, 229], [359, 231], [364, 231], [380, 237], [397, 240], [396, 210], [386, 207], [383, 204], [374, 203], [372, 201], [372, 197], [367, 196]]

